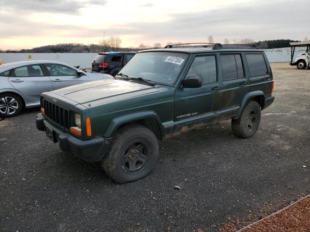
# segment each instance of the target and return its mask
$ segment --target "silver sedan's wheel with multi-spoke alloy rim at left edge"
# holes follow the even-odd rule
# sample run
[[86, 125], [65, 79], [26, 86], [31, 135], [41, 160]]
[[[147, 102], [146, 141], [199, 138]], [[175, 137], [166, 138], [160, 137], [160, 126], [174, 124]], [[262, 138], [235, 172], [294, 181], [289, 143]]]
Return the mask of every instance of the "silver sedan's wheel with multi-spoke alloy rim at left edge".
[[19, 115], [22, 108], [23, 102], [16, 94], [0, 94], [0, 117], [14, 117]]

